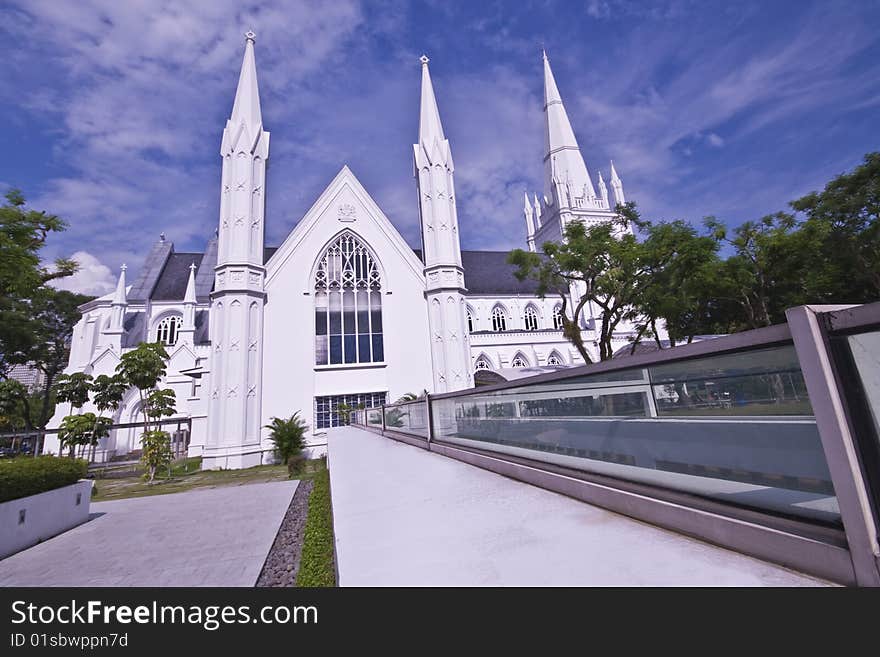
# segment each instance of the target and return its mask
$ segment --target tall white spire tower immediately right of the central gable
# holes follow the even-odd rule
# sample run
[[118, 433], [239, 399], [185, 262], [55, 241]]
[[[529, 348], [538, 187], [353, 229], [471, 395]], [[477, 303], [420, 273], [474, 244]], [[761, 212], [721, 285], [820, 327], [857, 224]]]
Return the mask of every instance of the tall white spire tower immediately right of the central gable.
[[434, 392], [449, 392], [473, 385], [470, 338], [465, 319], [466, 290], [452, 151], [440, 123], [428, 58], [422, 55], [420, 61], [419, 143], [413, 144], [413, 172], [419, 190]]

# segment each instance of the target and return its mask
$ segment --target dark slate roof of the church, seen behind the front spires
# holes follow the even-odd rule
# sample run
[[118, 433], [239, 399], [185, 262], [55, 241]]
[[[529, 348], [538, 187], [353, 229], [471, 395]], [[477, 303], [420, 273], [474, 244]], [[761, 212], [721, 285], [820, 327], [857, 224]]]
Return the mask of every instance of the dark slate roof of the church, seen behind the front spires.
[[[265, 247], [263, 249], [263, 263], [268, 262], [277, 250], [277, 246]], [[413, 252], [419, 260], [422, 259], [421, 250], [413, 249]], [[524, 294], [531, 296], [535, 293], [533, 281], [519, 281], [513, 275], [516, 267], [507, 264], [508, 253], [508, 251], [461, 252], [464, 279], [469, 294]], [[208, 242], [204, 256], [201, 253], [174, 253], [173, 249], [162, 255], [164, 256], [163, 266], [153, 283], [153, 292], [150, 298], [154, 301], [181, 301], [186, 293], [189, 265], [194, 262], [199, 268], [196, 272], [196, 297], [199, 301], [206, 301], [214, 284], [214, 267], [217, 264], [216, 239]], [[154, 254], [151, 252], [148, 265], [153, 257]]]

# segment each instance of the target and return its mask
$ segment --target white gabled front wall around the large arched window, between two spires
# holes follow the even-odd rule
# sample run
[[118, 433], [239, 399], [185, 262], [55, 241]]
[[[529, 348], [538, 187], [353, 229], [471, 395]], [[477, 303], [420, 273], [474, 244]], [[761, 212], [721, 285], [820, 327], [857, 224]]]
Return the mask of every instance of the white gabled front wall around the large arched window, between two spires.
[[[316, 365], [316, 263], [345, 230], [364, 242], [379, 264], [385, 358], [381, 363]], [[394, 400], [430, 389], [424, 290], [421, 262], [344, 168], [267, 263], [263, 424], [300, 411], [314, 430], [319, 395], [387, 392]], [[270, 445], [268, 431], [263, 440]]]

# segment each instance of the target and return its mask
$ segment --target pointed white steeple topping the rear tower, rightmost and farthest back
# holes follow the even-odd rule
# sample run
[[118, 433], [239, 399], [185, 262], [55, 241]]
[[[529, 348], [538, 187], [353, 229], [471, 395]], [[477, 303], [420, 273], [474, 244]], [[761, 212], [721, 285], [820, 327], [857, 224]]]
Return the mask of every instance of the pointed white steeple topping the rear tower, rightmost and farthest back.
[[[569, 194], [563, 194], [563, 189], [571, 190], [575, 194], [583, 194], [584, 198], [595, 197], [596, 192], [587, 173], [565, 106], [562, 104], [562, 97], [559, 95], [559, 88], [556, 86], [556, 79], [553, 77], [546, 52], [543, 53], [543, 57], [545, 196], [557, 207], [568, 206]], [[575, 201], [576, 199], [571, 199], [572, 203]]]

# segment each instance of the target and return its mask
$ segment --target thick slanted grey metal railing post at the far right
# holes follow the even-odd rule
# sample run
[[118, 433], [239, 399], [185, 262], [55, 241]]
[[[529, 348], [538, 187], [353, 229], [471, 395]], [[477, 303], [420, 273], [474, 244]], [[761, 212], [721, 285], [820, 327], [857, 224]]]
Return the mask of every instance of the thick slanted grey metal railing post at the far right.
[[822, 312], [846, 307], [798, 306], [786, 310], [785, 317], [834, 484], [856, 582], [863, 586], [880, 586], [880, 547], [867, 482], [862, 474], [828, 333], [819, 316]]

